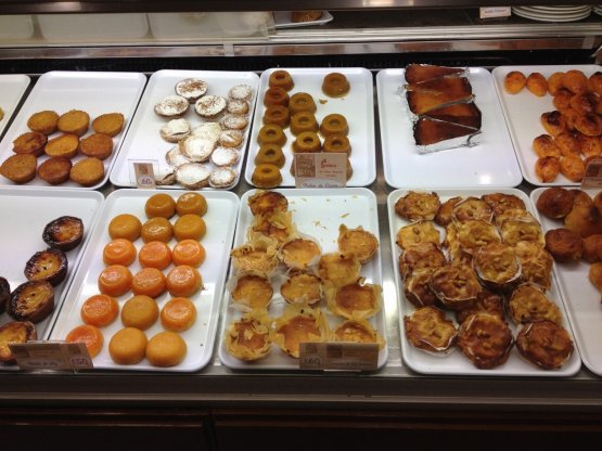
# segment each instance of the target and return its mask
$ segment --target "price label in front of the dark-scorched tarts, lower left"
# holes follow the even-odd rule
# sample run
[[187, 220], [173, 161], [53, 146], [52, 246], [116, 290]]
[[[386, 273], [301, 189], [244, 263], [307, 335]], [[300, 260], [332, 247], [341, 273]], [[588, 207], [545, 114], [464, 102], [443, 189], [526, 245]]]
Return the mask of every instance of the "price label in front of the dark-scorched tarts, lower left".
[[94, 368], [84, 343], [27, 342], [9, 348], [22, 370], [85, 370]]

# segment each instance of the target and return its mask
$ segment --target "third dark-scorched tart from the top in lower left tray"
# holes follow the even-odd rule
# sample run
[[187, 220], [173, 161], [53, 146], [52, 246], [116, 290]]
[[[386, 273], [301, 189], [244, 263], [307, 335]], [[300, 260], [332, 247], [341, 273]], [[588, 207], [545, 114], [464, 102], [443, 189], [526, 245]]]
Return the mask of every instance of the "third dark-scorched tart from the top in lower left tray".
[[18, 285], [9, 299], [8, 312], [17, 321], [38, 323], [54, 309], [54, 289], [50, 282], [25, 282]]

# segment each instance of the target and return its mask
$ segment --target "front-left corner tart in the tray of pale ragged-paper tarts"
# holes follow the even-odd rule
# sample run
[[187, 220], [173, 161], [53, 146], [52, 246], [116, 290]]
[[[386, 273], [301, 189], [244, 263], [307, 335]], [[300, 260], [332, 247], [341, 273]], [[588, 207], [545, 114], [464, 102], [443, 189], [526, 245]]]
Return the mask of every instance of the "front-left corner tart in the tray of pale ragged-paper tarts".
[[271, 319], [265, 310], [253, 310], [233, 321], [226, 331], [226, 350], [236, 359], [254, 362], [270, 351]]

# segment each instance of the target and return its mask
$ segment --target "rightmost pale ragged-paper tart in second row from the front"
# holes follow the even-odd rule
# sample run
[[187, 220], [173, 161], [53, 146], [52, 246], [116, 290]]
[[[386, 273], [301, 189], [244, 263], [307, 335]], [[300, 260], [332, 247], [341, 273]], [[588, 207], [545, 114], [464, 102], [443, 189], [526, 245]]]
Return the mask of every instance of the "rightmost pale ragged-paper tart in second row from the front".
[[381, 285], [362, 280], [336, 289], [326, 289], [326, 304], [332, 314], [347, 319], [367, 319], [383, 308]]

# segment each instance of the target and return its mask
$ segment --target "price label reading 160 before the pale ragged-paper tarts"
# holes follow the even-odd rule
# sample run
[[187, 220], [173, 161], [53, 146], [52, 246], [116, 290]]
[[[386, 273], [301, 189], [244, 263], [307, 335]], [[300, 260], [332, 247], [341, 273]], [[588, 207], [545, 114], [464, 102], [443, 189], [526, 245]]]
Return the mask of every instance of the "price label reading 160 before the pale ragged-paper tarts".
[[375, 343], [302, 343], [300, 370], [375, 371], [379, 345]]

